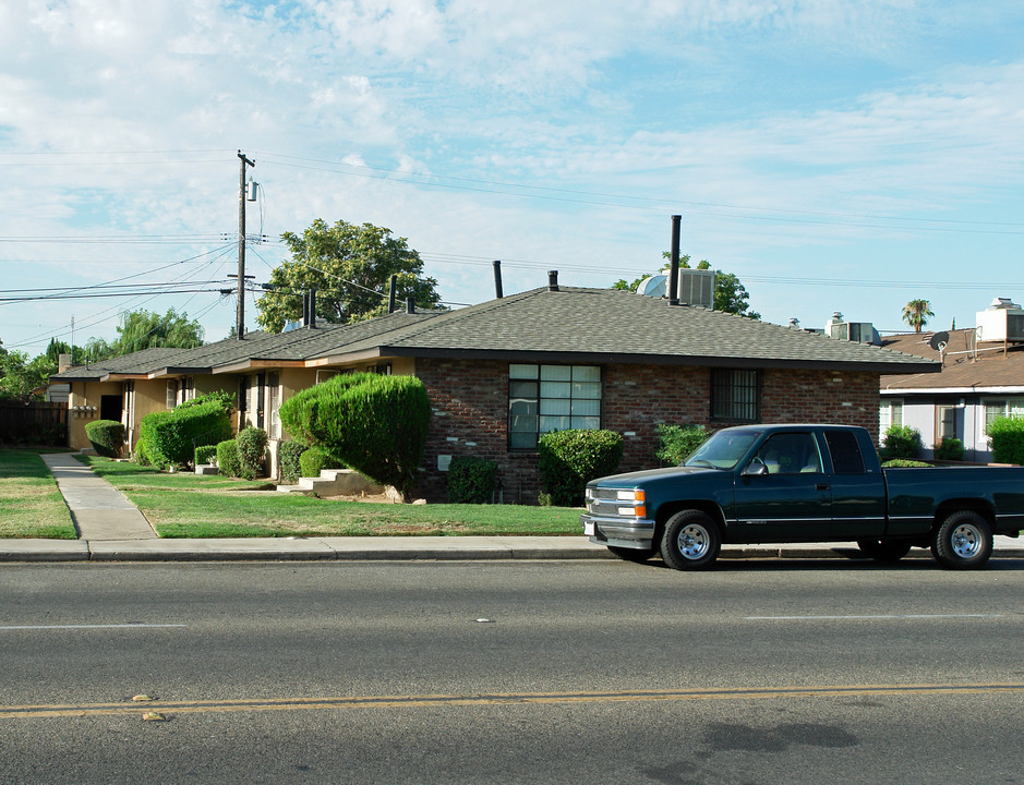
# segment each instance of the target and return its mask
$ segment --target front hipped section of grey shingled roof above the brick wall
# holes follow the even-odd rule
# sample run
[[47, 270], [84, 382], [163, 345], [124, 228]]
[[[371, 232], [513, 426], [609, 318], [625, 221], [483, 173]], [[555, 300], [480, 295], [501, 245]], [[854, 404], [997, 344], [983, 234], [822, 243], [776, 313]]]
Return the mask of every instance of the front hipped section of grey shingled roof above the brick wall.
[[933, 372], [939, 364], [863, 343], [615, 289], [534, 289], [453, 311], [333, 352], [757, 367]]

